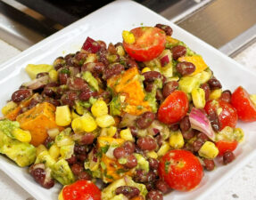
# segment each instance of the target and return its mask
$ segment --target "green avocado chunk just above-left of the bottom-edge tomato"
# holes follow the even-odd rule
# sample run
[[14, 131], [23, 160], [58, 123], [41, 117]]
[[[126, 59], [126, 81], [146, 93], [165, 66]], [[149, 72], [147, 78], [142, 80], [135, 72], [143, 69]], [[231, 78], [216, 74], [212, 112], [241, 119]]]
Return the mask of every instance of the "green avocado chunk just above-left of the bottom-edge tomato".
[[75, 181], [74, 174], [70, 170], [68, 162], [60, 159], [52, 168], [52, 176], [62, 185], [70, 185]]

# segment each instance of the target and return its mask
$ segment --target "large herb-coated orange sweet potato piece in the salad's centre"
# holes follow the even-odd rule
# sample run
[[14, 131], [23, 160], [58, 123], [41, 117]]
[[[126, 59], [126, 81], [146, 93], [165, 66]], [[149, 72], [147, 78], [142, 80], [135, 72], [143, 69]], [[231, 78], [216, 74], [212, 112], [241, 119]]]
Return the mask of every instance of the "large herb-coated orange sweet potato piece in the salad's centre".
[[121, 93], [125, 96], [123, 111], [139, 116], [146, 111], [151, 111], [148, 101], [145, 100], [145, 91], [143, 84], [139, 80], [137, 68], [129, 68], [119, 76], [113, 76], [108, 79], [107, 84], [114, 92]]

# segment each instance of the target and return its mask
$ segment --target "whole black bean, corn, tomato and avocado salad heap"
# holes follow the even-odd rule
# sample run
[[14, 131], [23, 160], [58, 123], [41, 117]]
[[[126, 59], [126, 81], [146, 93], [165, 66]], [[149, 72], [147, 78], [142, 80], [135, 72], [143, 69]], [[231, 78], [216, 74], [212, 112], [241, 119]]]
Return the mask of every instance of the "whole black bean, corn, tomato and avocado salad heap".
[[[160, 200], [235, 159], [256, 95], [223, 90], [202, 56], [157, 24], [87, 37], [53, 65], [29, 64], [0, 120], [0, 153], [59, 200]], [[216, 169], [218, 170], [218, 169]]]

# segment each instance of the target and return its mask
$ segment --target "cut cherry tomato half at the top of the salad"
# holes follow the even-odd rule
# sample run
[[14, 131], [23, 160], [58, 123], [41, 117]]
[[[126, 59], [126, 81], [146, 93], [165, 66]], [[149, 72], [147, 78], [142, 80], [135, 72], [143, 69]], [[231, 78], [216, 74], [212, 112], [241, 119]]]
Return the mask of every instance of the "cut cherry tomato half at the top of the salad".
[[166, 35], [160, 28], [140, 27], [130, 31], [135, 43], [123, 46], [128, 54], [137, 61], [148, 61], [158, 57], [165, 48]]

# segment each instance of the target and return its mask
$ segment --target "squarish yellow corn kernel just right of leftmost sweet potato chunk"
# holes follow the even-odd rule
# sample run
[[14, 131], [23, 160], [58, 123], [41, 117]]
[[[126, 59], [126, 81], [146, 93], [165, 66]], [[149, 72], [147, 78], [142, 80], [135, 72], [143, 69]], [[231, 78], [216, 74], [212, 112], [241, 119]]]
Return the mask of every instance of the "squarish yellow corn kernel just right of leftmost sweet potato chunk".
[[66, 126], [71, 123], [71, 113], [69, 106], [57, 107], [55, 112], [55, 121], [57, 125]]

